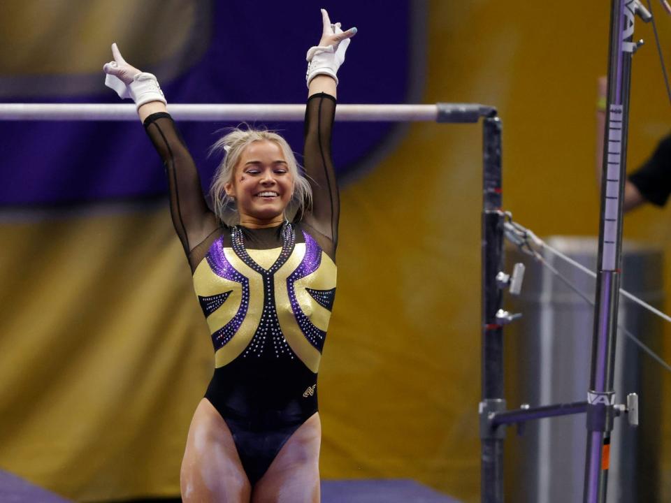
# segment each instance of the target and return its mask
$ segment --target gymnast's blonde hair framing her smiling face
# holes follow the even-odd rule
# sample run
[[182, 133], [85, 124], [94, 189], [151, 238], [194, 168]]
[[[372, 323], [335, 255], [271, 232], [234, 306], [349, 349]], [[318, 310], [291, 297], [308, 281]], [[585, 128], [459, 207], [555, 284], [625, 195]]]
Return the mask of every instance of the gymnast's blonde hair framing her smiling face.
[[287, 161], [289, 173], [291, 173], [294, 180], [294, 194], [289, 201], [289, 205], [285, 209], [285, 214], [295, 214], [297, 212], [304, 212], [306, 208], [312, 204], [312, 187], [305, 175], [303, 175], [301, 168], [296, 162], [296, 156], [291, 151], [289, 143], [284, 140], [282, 136], [275, 133], [275, 131], [268, 131], [268, 129], [253, 129], [244, 124], [244, 129], [240, 127], [231, 128], [222, 138], [210, 147], [211, 154], [221, 154], [224, 157], [217, 166], [215, 176], [212, 178], [212, 185], [210, 186], [210, 198], [212, 198], [212, 209], [219, 221], [226, 224], [235, 224], [239, 219], [237, 214], [236, 202], [231, 196], [226, 194], [225, 186], [232, 182], [235, 168], [240, 160], [247, 145], [255, 141], [271, 141], [277, 144], [284, 154], [284, 159]]

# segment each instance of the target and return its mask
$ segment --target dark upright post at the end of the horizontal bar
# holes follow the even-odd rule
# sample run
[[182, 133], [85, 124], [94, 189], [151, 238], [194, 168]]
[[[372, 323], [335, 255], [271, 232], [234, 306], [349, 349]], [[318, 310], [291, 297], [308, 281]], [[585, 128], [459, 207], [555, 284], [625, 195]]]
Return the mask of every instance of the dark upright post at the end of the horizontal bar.
[[482, 186], [482, 402], [479, 404], [481, 442], [480, 497], [483, 503], [503, 503], [503, 425], [493, 426], [490, 414], [505, 410], [503, 399], [503, 326], [497, 312], [503, 289], [496, 275], [503, 268], [501, 211], [501, 122], [483, 122]]

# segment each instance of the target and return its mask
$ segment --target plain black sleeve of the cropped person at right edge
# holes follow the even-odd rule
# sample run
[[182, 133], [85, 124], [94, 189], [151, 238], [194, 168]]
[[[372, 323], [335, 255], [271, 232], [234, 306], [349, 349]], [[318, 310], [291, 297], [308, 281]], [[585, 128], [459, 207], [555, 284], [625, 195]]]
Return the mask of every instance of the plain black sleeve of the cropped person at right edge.
[[671, 194], [671, 135], [663, 138], [650, 159], [629, 175], [629, 181], [647, 201], [666, 204]]

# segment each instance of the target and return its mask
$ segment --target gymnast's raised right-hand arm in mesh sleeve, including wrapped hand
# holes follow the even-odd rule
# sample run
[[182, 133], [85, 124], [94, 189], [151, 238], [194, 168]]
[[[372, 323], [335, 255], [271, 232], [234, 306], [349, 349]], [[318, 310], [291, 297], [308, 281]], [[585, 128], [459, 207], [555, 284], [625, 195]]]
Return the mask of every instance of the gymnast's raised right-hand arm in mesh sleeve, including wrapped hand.
[[305, 148], [303, 163], [312, 185], [312, 208], [303, 217], [305, 223], [338, 244], [340, 200], [335, 169], [331, 159], [331, 130], [335, 116], [336, 73], [345, 61], [349, 39], [356, 28], [340, 29], [331, 24], [322, 9], [322, 38], [308, 51], [308, 104], [305, 108]]

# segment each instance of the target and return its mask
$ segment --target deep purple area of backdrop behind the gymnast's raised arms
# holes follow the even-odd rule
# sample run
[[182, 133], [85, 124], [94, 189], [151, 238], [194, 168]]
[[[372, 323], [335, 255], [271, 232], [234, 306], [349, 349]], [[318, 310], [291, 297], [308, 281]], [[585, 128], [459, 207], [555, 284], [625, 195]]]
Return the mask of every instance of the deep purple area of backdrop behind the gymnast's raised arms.
[[[205, 40], [202, 57], [189, 60], [189, 52], [173, 80], [161, 80], [169, 103], [303, 103], [305, 52], [319, 41], [321, 16], [312, 1], [264, 2], [259, 15], [256, 2], [196, 3], [211, 9], [202, 16], [208, 29], [194, 36]], [[410, 82], [410, 0], [383, 2], [342, 0], [332, 7], [331, 19], [345, 28], [356, 24], [359, 34], [340, 69], [338, 96], [342, 103], [403, 103]], [[394, 20], [394, 36], [389, 24]], [[380, 41], [384, 40], [384, 50]], [[111, 42], [111, 41], [110, 41]], [[124, 50], [124, 48], [122, 48]], [[125, 48], [131, 61], [133, 48]], [[99, 61], [102, 66], [104, 61]], [[392, 78], [393, 76], [393, 78]], [[93, 78], [95, 76], [92, 76]], [[27, 77], [29, 85], [32, 77]], [[39, 79], [40, 77], [35, 77]], [[45, 78], [47, 78], [45, 76]], [[57, 94], [74, 88], [82, 75], [59, 75], [54, 94], [10, 96], [7, 102], [119, 103], [117, 95], [103, 86], [100, 91], [75, 98]], [[49, 79], [53, 79], [49, 77]], [[128, 103], [128, 102], [127, 102]], [[180, 129], [207, 187], [218, 159], [207, 157], [217, 139], [215, 131], [237, 124], [182, 122]], [[295, 152], [302, 150], [302, 124], [267, 124], [280, 129]], [[347, 123], [335, 127], [335, 166], [340, 175], [359, 166], [391, 131], [391, 124]], [[32, 205], [138, 198], [166, 193], [158, 156], [138, 123], [103, 122], [0, 122], [0, 205]], [[300, 161], [299, 157], [299, 161]]]

